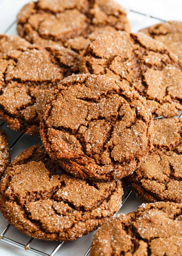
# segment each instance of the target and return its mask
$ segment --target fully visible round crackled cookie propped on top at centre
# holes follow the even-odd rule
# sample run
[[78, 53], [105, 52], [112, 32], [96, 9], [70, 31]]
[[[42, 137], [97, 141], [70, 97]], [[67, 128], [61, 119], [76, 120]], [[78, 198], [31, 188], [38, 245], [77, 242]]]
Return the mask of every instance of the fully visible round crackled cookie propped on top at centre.
[[89, 74], [63, 79], [45, 102], [40, 127], [50, 157], [81, 178], [132, 174], [152, 146], [151, 113], [125, 79]]

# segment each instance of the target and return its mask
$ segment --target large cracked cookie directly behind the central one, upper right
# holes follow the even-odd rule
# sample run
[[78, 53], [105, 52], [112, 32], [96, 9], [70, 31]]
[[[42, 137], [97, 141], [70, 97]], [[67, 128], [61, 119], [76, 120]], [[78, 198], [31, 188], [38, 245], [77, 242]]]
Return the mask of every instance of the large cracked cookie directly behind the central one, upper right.
[[146, 98], [154, 117], [172, 117], [182, 110], [182, 64], [145, 34], [119, 31], [97, 37], [80, 66], [83, 73], [126, 79]]

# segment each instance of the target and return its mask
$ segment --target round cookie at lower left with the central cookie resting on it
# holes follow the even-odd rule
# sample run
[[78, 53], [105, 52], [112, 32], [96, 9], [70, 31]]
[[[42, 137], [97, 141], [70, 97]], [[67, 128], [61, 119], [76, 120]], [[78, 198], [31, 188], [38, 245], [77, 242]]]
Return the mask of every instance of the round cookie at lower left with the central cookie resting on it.
[[92, 182], [63, 172], [41, 145], [28, 148], [0, 182], [0, 209], [33, 238], [74, 240], [96, 230], [120, 208], [122, 182]]

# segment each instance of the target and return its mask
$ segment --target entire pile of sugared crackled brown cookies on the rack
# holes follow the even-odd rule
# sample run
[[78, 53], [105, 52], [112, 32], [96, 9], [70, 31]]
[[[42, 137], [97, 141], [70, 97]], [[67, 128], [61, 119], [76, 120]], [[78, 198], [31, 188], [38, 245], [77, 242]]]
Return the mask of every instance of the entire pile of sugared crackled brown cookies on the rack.
[[[0, 130], [4, 217], [57, 241], [103, 224], [92, 256], [182, 255], [182, 23], [130, 34], [112, 0], [39, 0], [17, 17], [19, 36], [0, 35], [0, 117], [42, 145], [9, 165]], [[122, 179], [148, 203], [110, 219]]]

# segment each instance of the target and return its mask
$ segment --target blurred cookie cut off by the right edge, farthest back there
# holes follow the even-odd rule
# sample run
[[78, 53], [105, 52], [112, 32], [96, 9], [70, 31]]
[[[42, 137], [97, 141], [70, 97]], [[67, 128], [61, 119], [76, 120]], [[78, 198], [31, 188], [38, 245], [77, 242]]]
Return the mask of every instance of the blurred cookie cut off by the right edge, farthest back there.
[[143, 32], [152, 38], [164, 43], [169, 51], [178, 56], [182, 61], [182, 22], [167, 21], [164, 23], [155, 24], [151, 27], [141, 29]]

